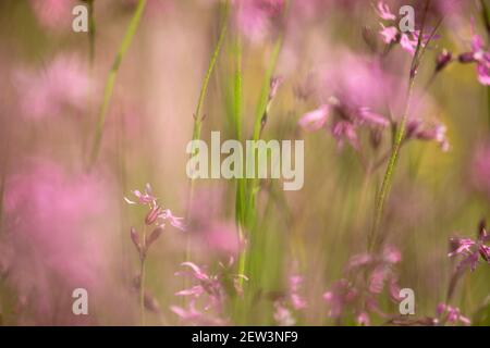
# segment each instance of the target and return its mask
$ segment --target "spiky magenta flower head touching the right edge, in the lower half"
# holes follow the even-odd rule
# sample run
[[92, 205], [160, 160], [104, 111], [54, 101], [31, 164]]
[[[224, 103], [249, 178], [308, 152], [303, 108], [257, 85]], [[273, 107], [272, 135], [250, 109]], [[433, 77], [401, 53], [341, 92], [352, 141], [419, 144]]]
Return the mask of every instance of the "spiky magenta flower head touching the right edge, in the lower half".
[[490, 247], [486, 244], [490, 240], [490, 235], [487, 233], [485, 221], [480, 222], [478, 227], [478, 236], [476, 239], [453, 237], [450, 239], [449, 257], [462, 257], [462, 261], [457, 265], [460, 270], [469, 266], [473, 271], [476, 270], [479, 260], [490, 264]]

